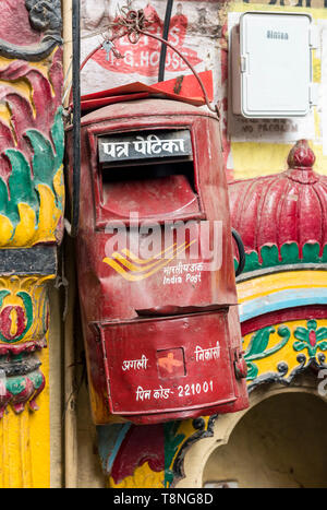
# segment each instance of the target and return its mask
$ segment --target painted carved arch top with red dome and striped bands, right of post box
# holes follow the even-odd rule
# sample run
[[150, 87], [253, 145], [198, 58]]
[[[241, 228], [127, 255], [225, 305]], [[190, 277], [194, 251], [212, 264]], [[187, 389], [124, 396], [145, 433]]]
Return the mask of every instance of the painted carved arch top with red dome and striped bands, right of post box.
[[288, 170], [229, 187], [246, 251], [238, 295], [250, 391], [325, 367], [327, 179], [314, 163], [300, 140]]

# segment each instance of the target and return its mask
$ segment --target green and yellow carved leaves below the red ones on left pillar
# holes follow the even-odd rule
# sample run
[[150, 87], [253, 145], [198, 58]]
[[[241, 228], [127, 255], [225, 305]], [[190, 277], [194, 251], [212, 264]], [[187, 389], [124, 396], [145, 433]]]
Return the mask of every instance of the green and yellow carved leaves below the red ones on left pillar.
[[63, 130], [61, 109], [51, 127], [50, 142], [39, 130], [28, 129], [33, 147], [31, 165], [23, 151], [7, 149], [8, 183], [0, 177], [0, 246], [31, 247], [60, 240], [63, 214]]

